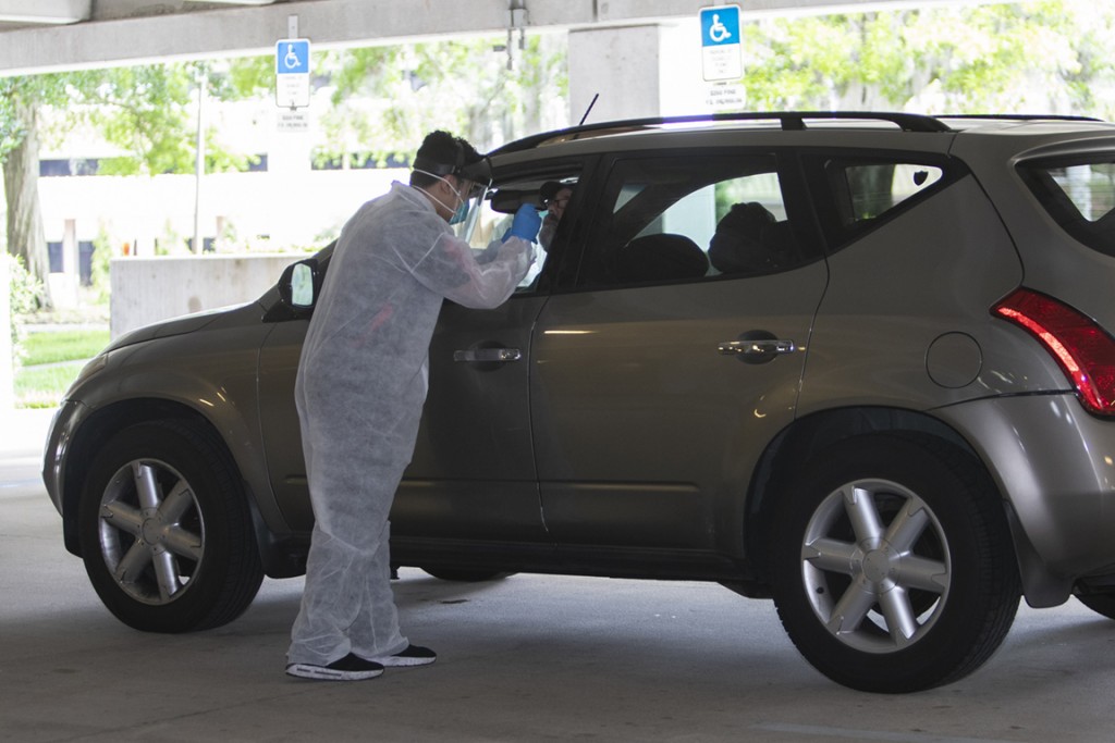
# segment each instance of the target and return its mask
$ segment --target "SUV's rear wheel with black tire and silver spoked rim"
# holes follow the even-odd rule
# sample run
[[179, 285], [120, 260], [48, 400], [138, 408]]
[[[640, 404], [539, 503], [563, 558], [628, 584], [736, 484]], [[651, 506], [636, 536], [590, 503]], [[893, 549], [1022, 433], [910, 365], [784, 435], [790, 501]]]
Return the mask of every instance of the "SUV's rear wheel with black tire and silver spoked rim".
[[833, 681], [905, 693], [999, 647], [1020, 583], [996, 488], [935, 439], [861, 436], [808, 461], [772, 542], [778, 616]]

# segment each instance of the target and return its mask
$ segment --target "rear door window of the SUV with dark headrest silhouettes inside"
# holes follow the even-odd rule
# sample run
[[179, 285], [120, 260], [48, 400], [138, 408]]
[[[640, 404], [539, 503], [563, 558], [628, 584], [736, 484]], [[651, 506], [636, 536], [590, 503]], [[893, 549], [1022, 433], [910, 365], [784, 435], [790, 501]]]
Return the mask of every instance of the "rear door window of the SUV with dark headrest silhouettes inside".
[[589, 286], [691, 282], [799, 265], [773, 154], [618, 160], [589, 241]]

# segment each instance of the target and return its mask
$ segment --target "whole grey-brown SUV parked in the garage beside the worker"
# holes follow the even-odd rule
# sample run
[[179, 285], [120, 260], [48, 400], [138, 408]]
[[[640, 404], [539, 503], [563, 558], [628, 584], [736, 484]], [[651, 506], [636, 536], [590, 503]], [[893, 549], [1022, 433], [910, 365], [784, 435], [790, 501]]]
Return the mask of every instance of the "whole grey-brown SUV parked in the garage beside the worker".
[[[1020, 595], [1115, 617], [1115, 126], [725, 115], [491, 162], [477, 246], [572, 196], [504, 306], [443, 310], [398, 565], [718, 581], [873, 692], [972, 672]], [[329, 255], [68, 392], [45, 479], [126, 624], [221, 625], [303, 570], [292, 389]]]

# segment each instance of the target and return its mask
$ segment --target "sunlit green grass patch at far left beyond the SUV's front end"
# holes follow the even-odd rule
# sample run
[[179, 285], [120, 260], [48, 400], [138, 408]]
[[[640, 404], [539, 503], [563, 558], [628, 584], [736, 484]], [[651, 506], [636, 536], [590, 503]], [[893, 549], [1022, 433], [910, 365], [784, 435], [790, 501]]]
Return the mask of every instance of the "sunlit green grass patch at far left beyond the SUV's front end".
[[86, 360], [106, 345], [107, 330], [28, 333], [23, 339], [26, 356], [16, 370], [16, 407], [57, 407]]

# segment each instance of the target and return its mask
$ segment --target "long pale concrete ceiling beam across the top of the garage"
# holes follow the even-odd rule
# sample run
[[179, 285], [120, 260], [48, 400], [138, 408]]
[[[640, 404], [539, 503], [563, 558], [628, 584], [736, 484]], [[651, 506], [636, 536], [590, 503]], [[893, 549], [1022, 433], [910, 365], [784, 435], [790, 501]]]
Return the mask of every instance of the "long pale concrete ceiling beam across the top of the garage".
[[[288, 37], [314, 45], [398, 43], [436, 37], [502, 33], [512, 7], [526, 9], [527, 31], [650, 23], [696, 18], [709, 0], [98, 0], [89, 20], [70, 26], [0, 29], [0, 76], [173, 59], [270, 53]], [[940, 0], [938, 0], [940, 1]], [[966, 0], [954, 0], [963, 2]], [[971, 1], [971, 0], [967, 0]], [[232, 4], [235, 2], [236, 4]], [[3, 8], [48, 9], [60, 19], [90, 0], [0, 0]], [[745, 16], [865, 10], [879, 0], [748, 0]], [[888, 7], [933, 4], [889, 0]], [[239, 6], [239, 7], [237, 7]], [[88, 13], [86, 13], [88, 17]]]

